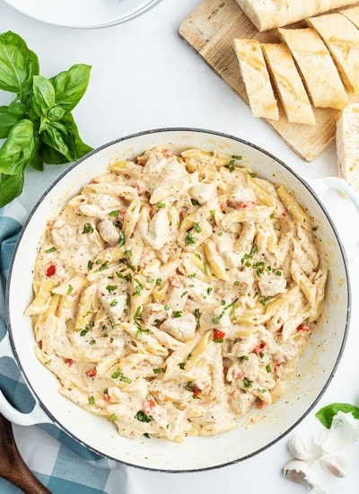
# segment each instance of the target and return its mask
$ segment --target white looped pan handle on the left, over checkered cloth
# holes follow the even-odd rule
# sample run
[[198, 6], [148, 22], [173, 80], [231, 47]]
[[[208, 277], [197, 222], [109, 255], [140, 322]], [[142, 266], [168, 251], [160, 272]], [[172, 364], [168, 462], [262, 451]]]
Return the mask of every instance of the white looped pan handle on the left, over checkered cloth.
[[[5, 334], [3, 340], [0, 341], [0, 355], [1, 357], [12, 357], [13, 350], [10, 344], [9, 335]], [[32, 395], [33, 396], [33, 395]], [[33, 396], [35, 400], [35, 406], [30, 413], [22, 413], [22, 411], [16, 410], [12, 404], [7, 401], [4, 393], [0, 390], [0, 413], [13, 424], [18, 426], [33, 426], [35, 424], [53, 424], [48, 415], [42, 410], [39, 401]]]

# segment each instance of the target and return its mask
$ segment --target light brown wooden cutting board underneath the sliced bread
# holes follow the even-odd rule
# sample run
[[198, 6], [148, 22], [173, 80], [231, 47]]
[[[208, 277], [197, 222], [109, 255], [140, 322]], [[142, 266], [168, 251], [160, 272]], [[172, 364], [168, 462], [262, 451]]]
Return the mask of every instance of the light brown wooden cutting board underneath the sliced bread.
[[[301, 25], [297, 23], [295, 27]], [[181, 23], [179, 32], [216, 74], [249, 104], [237, 57], [232, 48], [233, 38], [278, 42], [276, 30], [258, 32], [234, 0], [204, 0]], [[350, 96], [349, 101], [359, 101], [359, 95]], [[311, 162], [334, 142], [339, 110], [314, 109], [317, 125], [313, 127], [289, 123], [280, 104], [279, 112], [278, 121], [267, 120], [267, 123], [275, 128], [287, 145], [304, 160]]]

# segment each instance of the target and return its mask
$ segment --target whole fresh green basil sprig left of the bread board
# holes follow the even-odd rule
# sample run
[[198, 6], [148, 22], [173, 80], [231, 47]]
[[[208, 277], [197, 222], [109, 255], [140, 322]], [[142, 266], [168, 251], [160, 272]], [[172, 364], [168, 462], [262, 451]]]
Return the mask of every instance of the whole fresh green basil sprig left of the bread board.
[[71, 113], [90, 79], [91, 66], [76, 64], [47, 79], [39, 59], [18, 34], [0, 34], [0, 89], [16, 96], [0, 106], [0, 207], [22, 193], [30, 165], [74, 162], [92, 147], [79, 135]]

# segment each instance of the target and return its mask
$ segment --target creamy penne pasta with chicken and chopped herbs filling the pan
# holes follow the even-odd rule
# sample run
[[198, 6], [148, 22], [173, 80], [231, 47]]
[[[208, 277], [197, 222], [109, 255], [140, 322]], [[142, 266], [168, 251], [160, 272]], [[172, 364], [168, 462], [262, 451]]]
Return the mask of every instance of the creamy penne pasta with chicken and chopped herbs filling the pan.
[[214, 435], [267, 407], [315, 331], [312, 218], [241, 156], [155, 147], [48, 221], [31, 315], [59, 392], [124, 437]]

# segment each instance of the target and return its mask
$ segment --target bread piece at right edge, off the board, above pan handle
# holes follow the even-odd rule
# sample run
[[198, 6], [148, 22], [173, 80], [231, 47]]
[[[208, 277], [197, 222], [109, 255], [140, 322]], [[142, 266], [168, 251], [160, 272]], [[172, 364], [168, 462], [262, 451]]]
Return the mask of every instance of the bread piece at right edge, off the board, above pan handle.
[[339, 174], [359, 192], [359, 103], [346, 106], [337, 119]]

